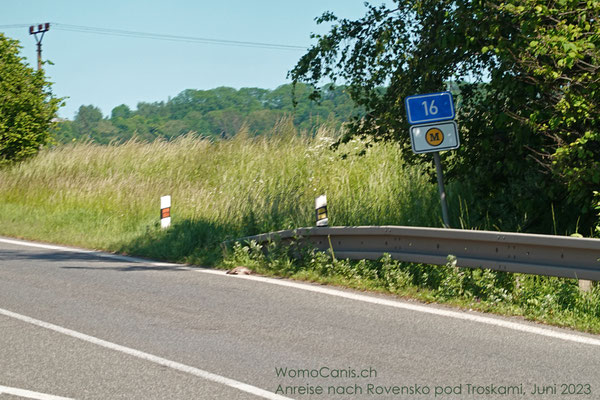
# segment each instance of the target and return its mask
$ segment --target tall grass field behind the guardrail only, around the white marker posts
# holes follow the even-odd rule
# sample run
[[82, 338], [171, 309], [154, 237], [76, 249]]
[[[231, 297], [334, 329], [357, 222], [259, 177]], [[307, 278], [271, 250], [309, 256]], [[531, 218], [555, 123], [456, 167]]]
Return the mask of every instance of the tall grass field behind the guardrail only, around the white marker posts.
[[0, 234], [206, 265], [224, 240], [313, 225], [321, 194], [334, 225], [439, 226], [435, 186], [395, 146], [358, 157], [362, 146], [349, 143], [342, 159], [329, 148], [334, 132], [299, 136], [289, 121], [275, 132], [44, 150], [0, 170]]

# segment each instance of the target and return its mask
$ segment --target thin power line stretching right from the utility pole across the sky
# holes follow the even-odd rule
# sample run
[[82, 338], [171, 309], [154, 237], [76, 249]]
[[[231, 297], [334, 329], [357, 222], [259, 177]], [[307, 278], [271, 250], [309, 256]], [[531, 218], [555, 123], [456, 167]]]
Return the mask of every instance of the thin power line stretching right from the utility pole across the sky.
[[[126, 31], [126, 30], [122, 30], [122, 29], [110, 29], [110, 28], [98, 28], [98, 27], [83, 26], [83, 25], [61, 24], [61, 23], [57, 23], [57, 22], [53, 22], [52, 26], [58, 30], [90, 33], [90, 34], [96, 34], [96, 35], [125, 36], [125, 37], [133, 37], [133, 38], [140, 38], [140, 39], [168, 40], [168, 41], [175, 41], [175, 42], [215, 44], [215, 45], [223, 45], [223, 46], [254, 47], [254, 48], [274, 49], [274, 50], [295, 50], [295, 51], [298, 51], [298, 50], [305, 51], [306, 50], [306, 47], [286, 45], [286, 44], [249, 42], [249, 41], [227, 40], [227, 39], [214, 39], [214, 38], [204, 38], [204, 37], [194, 37], [194, 36], [166, 35], [166, 34], [151, 33], [151, 32]], [[3, 27], [4, 26], [0, 25], [0, 28], [3, 28]], [[17, 27], [17, 26], [11, 26], [11, 27]]]

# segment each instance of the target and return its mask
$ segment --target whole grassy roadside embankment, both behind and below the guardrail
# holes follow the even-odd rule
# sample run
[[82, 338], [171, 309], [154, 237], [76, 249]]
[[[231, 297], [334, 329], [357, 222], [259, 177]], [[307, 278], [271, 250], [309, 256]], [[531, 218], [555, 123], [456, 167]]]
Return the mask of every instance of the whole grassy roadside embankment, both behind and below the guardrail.
[[[600, 332], [600, 289], [581, 293], [574, 280], [389, 258], [348, 262], [310, 251], [298, 260], [285, 249], [265, 256], [252, 244], [223, 259], [224, 240], [312, 225], [320, 194], [327, 194], [331, 225], [439, 226], [436, 186], [423, 168], [404, 165], [395, 146], [377, 144], [356, 157], [350, 143], [341, 159], [329, 149], [330, 132], [298, 137], [285, 124], [276, 132], [45, 150], [0, 170], [0, 234], [199, 265], [244, 264]], [[173, 198], [173, 226], [163, 231], [165, 194]]]

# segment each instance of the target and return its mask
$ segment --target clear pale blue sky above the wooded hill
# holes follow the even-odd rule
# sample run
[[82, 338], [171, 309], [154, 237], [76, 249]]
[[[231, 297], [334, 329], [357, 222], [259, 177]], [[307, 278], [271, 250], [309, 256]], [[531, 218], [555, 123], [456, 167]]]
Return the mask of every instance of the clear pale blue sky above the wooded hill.
[[[0, 32], [20, 41], [21, 55], [34, 68], [36, 42], [29, 26], [50, 23], [42, 57], [53, 65], [44, 70], [53, 93], [66, 97], [59, 116], [68, 119], [81, 105], [109, 116], [120, 104], [135, 109], [139, 102], [167, 101], [185, 89], [274, 89], [289, 82], [287, 72], [313, 43], [310, 34], [326, 31], [316, 17], [333, 11], [358, 18], [366, 10], [363, 0], [0, 0], [0, 9]], [[100, 35], [69, 25], [299, 48]]]

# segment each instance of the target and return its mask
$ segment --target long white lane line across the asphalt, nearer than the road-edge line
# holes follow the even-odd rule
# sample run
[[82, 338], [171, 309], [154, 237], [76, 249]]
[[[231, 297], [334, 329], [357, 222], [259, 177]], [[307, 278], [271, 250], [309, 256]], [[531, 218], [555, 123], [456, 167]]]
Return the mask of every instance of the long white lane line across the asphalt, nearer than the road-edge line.
[[[85, 333], [77, 332], [71, 329], [63, 328], [62, 326], [54, 325], [48, 322], [40, 321], [38, 319], [34, 319], [28, 317], [26, 315], [17, 314], [15, 312], [4, 310], [0, 308], [0, 314], [6, 317], [18, 319], [23, 322], [27, 322], [28, 324], [36, 325], [42, 328], [46, 328], [52, 330], [54, 332], [62, 333], [63, 335], [71, 336], [76, 339], [80, 339], [86, 341], [88, 343], [95, 344], [97, 346], [102, 346], [104, 348], [118, 351], [133, 357], [141, 358], [142, 360], [150, 361], [152, 363], [162, 365], [164, 367], [168, 367], [177, 371], [185, 372], [191, 375], [195, 375], [199, 378], [203, 378], [212, 382], [219, 383], [221, 385], [229, 386], [250, 394], [253, 394], [258, 397], [262, 397], [268, 400], [292, 400], [289, 397], [280, 396], [278, 394], [269, 392], [267, 390], [261, 389], [256, 386], [249, 385], [247, 383], [239, 382], [234, 379], [226, 378], [221, 375], [213, 374], [212, 372], [204, 371], [199, 368], [190, 367], [189, 365], [181, 364], [176, 361], [167, 360], [166, 358], [158, 357], [150, 353], [145, 353], [140, 350], [135, 350], [129, 347], [121, 346], [116, 343], [108, 342], [106, 340], [98, 339], [94, 336], [86, 335]], [[2, 390], [2, 387], [0, 387]], [[37, 397], [35, 397], [37, 398]], [[41, 400], [46, 400], [46, 398], [42, 398]], [[50, 398], [48, 398], [50, 400]]]

